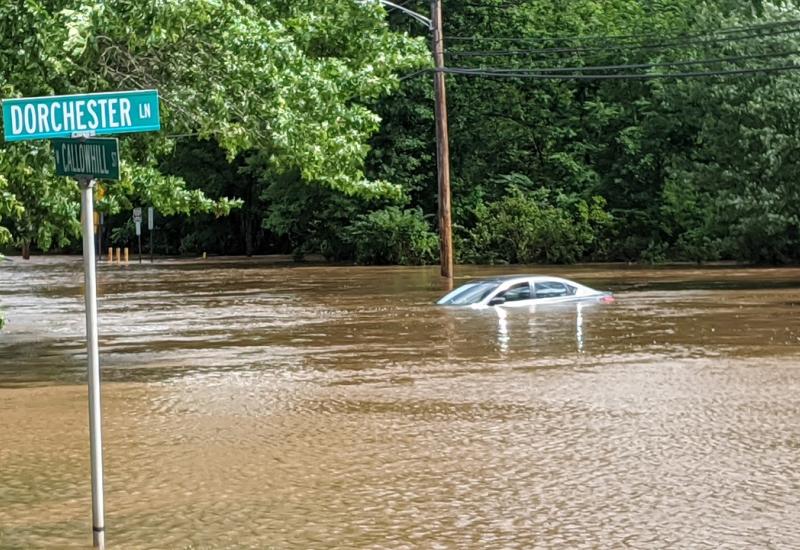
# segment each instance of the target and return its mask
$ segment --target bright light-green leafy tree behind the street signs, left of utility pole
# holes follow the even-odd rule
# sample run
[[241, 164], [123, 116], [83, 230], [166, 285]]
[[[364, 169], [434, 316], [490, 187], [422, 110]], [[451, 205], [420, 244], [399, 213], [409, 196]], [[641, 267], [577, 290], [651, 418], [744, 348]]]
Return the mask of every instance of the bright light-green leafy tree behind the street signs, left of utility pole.
[[[171, 135], [187, 133], [215, 140], [229, 159], [269, 151], [270, 169], [296, 169], [306, 183], [396, 193], [363, 176], [367, 139], [379, 122], [363, 102], [390, 91], [396, 71], [426, 57], [422, 43], [390, 32], [382, 13], [349, 0], [7, 2], [0, 6], [0, 90], [4, 97], [159, 90], [164, 132], [124, 138], [122, 181], [101, 203], [108, 213], [152, 204], [166, 214], [222, 215], [241, 205], [209, 199], [159, 170], [174, 147]], [[5, 228], [44, 247], [48, 235], [74, 237], [74, 224], [61, 222], [74, 217], [77, 191], [53, 176], [48, 146], [4, 145], [2, 152], [6, 192], [24, 209], [5, 211]], [[54, 202], [34, 207], [43, 194]], [[63, 231], [54, 233], [56, 226]]]

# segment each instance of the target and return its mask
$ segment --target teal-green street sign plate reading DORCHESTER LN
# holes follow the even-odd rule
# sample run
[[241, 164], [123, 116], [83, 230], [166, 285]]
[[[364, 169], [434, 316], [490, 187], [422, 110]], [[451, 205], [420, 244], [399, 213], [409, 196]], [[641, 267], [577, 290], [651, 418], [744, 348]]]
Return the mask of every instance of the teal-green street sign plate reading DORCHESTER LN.
[[156, 90], [3, 100], [6, 141], [161, 129]]

